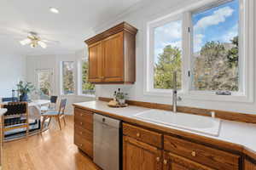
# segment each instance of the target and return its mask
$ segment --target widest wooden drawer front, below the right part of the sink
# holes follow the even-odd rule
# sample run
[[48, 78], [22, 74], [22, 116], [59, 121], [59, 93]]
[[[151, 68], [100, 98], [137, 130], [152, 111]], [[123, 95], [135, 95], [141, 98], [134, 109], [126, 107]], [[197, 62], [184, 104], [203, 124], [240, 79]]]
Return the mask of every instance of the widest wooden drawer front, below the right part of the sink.
[[214, 169], [239, 169], [240, 156], [230, 154], [223, 150], [212, 149], [201, 144], [195, 144], [183, 139], [177, 139], [165, 135], [164, 149]]

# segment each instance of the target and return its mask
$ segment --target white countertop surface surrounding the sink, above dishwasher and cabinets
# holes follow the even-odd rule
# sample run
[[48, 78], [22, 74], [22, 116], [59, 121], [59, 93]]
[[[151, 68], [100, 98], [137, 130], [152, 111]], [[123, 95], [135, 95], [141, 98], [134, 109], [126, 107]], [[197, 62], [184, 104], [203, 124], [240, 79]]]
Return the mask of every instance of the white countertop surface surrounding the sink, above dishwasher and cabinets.
[[[125, 107], [125, 108], [111, 108], [111, 107], [108, 107], [107, 104], [108, 104], [107, 102], [96, 100], [96, 101], [89, 101], [89, 102], [83, 102], [83, 103], [75, 103], [73, 105], [78, 106], [80, 108], [84, 108], [84, 109], [90, 109], [90, 111], [99, 111], [101, 113], [102, 112], [109, 113], [110, 116], [113, 116], [114, 118], [119, 119], [119, 117], [127, 117], [135, 121], [142, 121], [141, 119], [135, 117], [136, 114], [143, 111], [152, 110], [150, 108], [145, 108], [145, 107], [140, 107], [135, 105], [129, 105], [128, 107]], [[143, 120], [143, 122], [148, 122], [148, 121]], [[170, 129], [176, 129], [176, 130], [187, 132], [187, 133], [194, 133], [194, 134], [211, 138], [211, 139], [218, 139], [224, 142], [240, 144], [246, 149], [256, 153], [256, 144], [255, 144], [256, 124], [221, 120], [219, 135], [216, 137], [216, 136], [211, 136], [204, 133], [196, 133], [193, 131], [184, 130], [182, 128], [165, 126], [160, 123], [155, 123], [155, 122], [149, 122], [149, 123], [160, 126], [160, 127], [167, 127]]]

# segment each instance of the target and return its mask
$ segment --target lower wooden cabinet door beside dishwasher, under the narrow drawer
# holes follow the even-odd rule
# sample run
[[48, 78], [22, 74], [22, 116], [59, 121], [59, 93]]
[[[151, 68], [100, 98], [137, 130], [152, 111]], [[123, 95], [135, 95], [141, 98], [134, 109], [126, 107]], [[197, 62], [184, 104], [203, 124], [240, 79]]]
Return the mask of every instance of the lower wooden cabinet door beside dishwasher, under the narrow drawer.
[[123, 170], [161, 170], [161, 150], [124, 136]]

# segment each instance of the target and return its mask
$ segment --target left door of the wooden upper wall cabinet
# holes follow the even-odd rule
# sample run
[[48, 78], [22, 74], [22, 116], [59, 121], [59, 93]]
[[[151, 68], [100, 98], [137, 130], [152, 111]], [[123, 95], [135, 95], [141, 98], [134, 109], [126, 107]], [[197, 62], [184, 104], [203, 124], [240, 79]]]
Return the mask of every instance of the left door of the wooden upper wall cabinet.
[[102, 42], [89, 46], [89, 82], [102, 82]]

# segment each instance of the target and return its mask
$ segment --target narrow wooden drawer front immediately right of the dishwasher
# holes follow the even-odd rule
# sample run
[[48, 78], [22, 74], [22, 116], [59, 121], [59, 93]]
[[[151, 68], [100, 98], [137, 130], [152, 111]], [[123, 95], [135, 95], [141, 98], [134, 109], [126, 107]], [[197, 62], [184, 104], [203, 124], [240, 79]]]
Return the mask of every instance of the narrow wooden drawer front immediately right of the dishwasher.
[[131, 138], [162, 148], [162, 134], [123, 123], [123, 133]]

